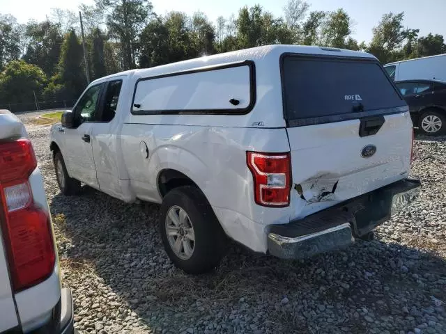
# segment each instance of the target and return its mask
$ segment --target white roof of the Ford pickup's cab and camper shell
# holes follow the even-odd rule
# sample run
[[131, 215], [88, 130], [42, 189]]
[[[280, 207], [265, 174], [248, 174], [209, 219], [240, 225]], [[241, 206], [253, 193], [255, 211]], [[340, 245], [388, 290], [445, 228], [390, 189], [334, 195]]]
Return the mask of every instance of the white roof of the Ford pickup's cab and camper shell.
[[130, 76], [132, 74], [136, 75], [137, 77], [153, 77], [162, 74], [193, 70], [199, 67], [236, 63], [246, 60], [255, 61], [256, 63], [259, 61], [262, 62], [270, 61], [273, 64], [277, 64], [277, 59], [279, 58], [279, 56], [288, 52], [295, 54], [309, 54], [316, 56], [324, 55], [324, 56], [375, 58], [373, 55], [367, 54], [365, 52], [351, 51], [346, 49], [336, 49], [332, 47], [314, 47], [307, 45], [266, 45], [262, 47], [253, 47], [251, 49], [242, 49], [238, 51], [225, 52], [223, 54], [203, 56], [200, 58], [194, 58], [187, 61], [179, 61], [177, 63], [170, 63], [166, 65], [144, 68], [140, 70], [128, 70], [125, 72], [119, 72], [104, 78], [97, 79], [96, 81], [102, 81], [103, 79], [110, 79], [122, 75]]

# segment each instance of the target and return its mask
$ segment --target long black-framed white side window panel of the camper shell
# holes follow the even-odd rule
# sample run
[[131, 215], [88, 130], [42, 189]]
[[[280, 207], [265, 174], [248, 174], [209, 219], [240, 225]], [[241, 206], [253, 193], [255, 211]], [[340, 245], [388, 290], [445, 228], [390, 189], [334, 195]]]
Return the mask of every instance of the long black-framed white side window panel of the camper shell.
[[255, 102], [254, 63], [140, 79], [132, 113], [247, 113]]

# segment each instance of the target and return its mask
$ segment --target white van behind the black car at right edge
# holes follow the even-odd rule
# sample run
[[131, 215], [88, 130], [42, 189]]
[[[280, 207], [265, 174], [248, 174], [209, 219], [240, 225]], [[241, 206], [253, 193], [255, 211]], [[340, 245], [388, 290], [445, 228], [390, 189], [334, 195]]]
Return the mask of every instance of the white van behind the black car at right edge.
[[384, 68], [394, 81], [413, 79], [446, 81], [446, 54], [397, 61], [384, 65]]

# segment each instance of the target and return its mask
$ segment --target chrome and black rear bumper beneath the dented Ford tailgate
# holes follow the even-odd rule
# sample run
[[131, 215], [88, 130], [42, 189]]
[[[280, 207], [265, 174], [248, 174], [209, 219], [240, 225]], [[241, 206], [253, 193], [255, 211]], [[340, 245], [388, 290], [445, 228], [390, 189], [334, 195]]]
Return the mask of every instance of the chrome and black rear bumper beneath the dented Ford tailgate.
[[404, 179], [288, 224], [270, 225], [268, 252], [299, 259], [353, 244], [413, 202], [419, 180]]

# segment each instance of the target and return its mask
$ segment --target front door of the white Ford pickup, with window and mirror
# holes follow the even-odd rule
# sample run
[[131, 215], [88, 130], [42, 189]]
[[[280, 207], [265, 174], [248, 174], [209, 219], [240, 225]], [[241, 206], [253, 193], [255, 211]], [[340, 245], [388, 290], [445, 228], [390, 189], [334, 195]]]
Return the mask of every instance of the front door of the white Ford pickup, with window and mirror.
[[73, 108], [72, 112], [75, 113], [79, 126], [61, 129], [61, 151], [70, 177], [94, 188], [98, 188], [99, 183], [91, 147], [91, 132], [93, 126], [100, 122], [99, 101], [103, 85], [91, 86]]

